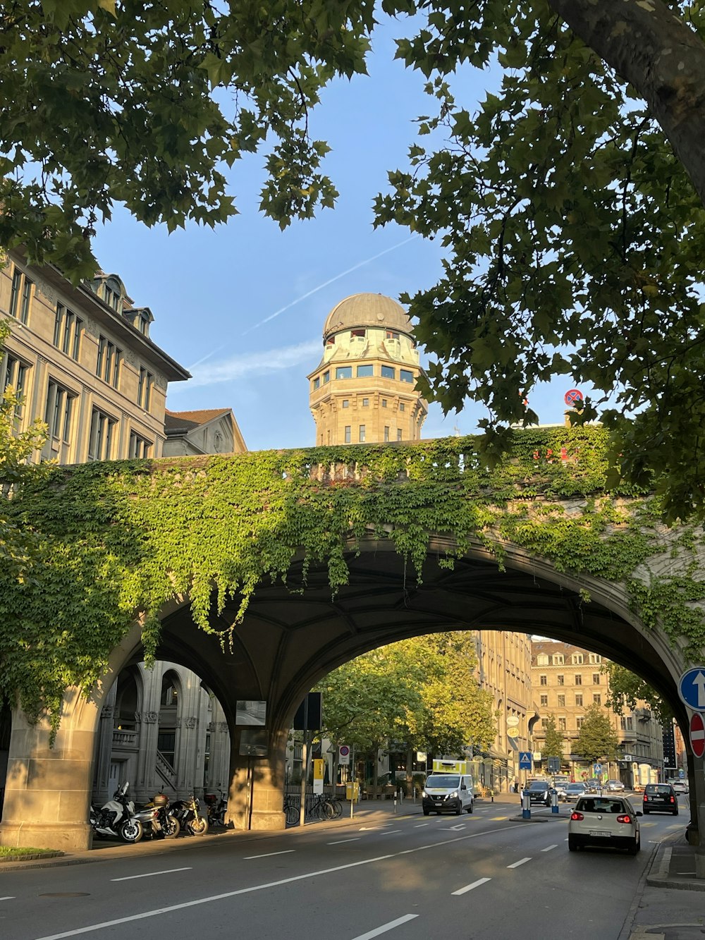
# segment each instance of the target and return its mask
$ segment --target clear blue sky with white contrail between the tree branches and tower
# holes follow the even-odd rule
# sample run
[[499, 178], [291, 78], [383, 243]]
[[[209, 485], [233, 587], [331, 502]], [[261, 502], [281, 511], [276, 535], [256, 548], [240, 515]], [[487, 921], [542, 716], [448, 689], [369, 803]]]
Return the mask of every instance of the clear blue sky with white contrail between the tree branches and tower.
[[[386, 173], [406, 167], [414, 119], [431, 114], [425, 79], [393, 61], [400, 23], [375, 34], [368, 77], [338, 81], [323, 93], [309, 131], [332, 152], [324, 170], [340, 196], [337, 208], [282, 232], [258, 213], [260, 157], [235, 164], [231, 194], [241, 212], [227, 225], [189, 226], [168, 235], [116, 211], [95, 242], [103, 270], [119, 274], [135, 304], [155, 317], [151, 337], [194, 374], [172, 384], [175, 411], [230, 407], [249, 449], [309, 446], [314, 423], [305, 376], [321, 357], [330, 309], [359, 291], [398, 298], [431, 287], [442, 247], [396, 226], [372, 229], [372, 199]], [[465, 71], [456, 94], [471, 112], [488, 75]], [[427, 138], [428, 139], [428, 138]], [[537, 390], [531, 405], [541, 422], [562, 420], [568, 379]], [[444, 418], [431, 404], [424, 437], [472, 433], [484, 412], [469, 404]]]

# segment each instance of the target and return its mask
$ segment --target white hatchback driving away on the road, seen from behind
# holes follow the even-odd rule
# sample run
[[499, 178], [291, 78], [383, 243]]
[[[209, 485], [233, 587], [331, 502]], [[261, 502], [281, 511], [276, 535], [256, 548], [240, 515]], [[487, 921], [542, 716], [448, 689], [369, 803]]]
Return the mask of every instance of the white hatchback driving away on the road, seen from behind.
[[641, 848], [641, 815], [624, 796], [581, 796], [568, 822], [568, 848], [576, 852], [599, 845], [635, 855]]

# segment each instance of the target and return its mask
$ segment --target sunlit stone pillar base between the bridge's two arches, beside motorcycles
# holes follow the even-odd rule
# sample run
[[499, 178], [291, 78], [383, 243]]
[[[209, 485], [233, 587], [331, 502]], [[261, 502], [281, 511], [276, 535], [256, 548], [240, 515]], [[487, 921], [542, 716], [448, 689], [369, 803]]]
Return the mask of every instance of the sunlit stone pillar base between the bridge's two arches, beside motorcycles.
[[284, 753], [287, 732], [270, 734], [267, 757], [240, 754], [243, 729], [230, 732], [230, 789], [227, 817], [236, 829], [286, 828], [284, 815]]

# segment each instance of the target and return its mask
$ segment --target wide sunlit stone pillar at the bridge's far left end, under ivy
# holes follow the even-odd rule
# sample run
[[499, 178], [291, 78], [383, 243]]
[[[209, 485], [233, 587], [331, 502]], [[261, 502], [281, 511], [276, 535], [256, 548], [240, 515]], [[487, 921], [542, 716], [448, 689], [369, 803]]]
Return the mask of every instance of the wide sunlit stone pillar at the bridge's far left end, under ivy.
[[80, 690], [64, 695], [53, 747], [49, 723], [12, 714], [0, 843], [76, 851], [90, 848], [88, 823], [100, 704]]

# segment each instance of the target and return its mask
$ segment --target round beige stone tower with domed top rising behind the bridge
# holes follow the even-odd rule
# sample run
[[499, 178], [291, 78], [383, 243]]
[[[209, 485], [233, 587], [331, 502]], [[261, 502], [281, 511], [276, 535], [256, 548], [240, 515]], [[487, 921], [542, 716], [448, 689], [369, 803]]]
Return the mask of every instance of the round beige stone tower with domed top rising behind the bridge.
[[417, 441], [429, 410], [416, 391], [414, 328], [391, 297], [359, 293], [333, 307], [308, 376], [316, 444]]

